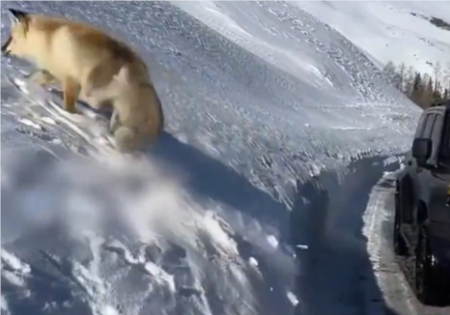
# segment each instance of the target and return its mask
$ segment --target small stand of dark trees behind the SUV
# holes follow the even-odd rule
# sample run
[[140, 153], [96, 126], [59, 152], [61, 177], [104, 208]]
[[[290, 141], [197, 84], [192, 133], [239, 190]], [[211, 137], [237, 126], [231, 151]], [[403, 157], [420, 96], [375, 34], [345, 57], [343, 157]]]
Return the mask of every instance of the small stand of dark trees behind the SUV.
[[404, 63], [395, 65], [388, 62], [383, 68], [383, 76], [388, 83], [423, 109], [433, 102], [450, 99], [450, 62], [442, 66], [436, 62], [432, 74], [417, 72]]

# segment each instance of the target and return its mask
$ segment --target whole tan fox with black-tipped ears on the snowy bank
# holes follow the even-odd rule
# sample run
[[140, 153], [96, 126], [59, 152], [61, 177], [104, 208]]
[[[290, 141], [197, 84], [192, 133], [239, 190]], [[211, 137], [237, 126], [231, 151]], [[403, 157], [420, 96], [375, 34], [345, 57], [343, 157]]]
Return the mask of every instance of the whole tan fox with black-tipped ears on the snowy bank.
[[[114, 117], [118, 116], [123, 126], [111, 132], [124, 147], [128, 141], [135, 147], [141, 134], [155, 137], [161, 133], [161, 102], [145, 62], [130, 47], [81, 22], [9, 11], [11, 35], [1, 52], [34, 63], [38, 70], [32, 80], [39, 85], [61, 83], [64, 109], [76, 113], [79, 98], [97, 108], [113, 106]], [[115, 86], [118, 92], [111, 93]], [[93, 98], [89, 94], [97, 88]], [[113, 120], [111, 126], [116, 124]]]

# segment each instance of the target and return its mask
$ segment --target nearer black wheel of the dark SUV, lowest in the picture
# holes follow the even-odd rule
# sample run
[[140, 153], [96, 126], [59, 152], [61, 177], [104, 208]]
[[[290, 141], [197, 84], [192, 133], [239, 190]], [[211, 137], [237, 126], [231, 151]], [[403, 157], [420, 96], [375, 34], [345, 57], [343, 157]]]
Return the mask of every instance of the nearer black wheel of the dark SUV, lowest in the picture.
[[426, 224], [418, 232], [415, 263], [415, 286], [418, 300], [423, 304], [441, 304], [446, 300], [444, 288], [438, 283], [439, 272], [432, 257]]

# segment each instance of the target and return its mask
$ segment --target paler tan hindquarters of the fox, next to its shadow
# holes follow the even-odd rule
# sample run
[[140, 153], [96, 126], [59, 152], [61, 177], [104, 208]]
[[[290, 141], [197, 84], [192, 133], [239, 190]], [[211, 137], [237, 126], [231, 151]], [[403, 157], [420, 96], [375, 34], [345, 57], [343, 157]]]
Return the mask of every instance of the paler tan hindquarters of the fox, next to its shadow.
[[135, 81], [132, 65], [124, 65], [107, 86], [86, 89], [93, 106], [108, 100], [114, 107], [109, 124], [116, 146], [121, 152], [134, 152], [144, 140], [156, 140], [163, 132], [164, 116], [154, 86]]

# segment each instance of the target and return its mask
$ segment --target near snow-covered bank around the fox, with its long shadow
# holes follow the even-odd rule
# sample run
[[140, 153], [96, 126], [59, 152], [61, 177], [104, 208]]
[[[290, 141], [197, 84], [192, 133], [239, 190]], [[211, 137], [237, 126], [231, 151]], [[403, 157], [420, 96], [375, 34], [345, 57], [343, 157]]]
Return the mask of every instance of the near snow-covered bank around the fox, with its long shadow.
[[2, 1], [2, 42], [8, 6], [132, 43], [168, 128], [114, 158], [1, 59], [1, 314], [382, 314], [362, 213], [420, 109], [350, 41], [283, 2]]

